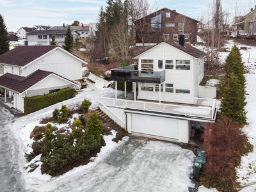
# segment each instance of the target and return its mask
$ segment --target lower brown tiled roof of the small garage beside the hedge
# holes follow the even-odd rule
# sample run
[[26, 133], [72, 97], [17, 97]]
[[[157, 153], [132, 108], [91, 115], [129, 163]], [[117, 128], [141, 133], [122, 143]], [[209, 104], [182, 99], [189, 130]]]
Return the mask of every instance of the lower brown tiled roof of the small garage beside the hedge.
[[[21, 77], [13, 74], [6, 73], [3, 76], [0, 77], [0, 86], [10, 89], [17, 93], [22, 93], [34, 84], [38, 83], [45, 77], [49, 76], [50, 74], [55, 74], [54, 72], [49, 72], [45, 70], [36, 70], [32, 74], [30, 74], [28, 77]], [[58, 74], [55, 74], [56, 76], [59, 76]], [[61, 76], [59, 76], [61, 77]], [[66, 79], [62, 77], [63, 79]], [[66, 79], [67, 81], [70, 81]], [[72, 81], [70, 81], [72, 82]], [[73, 82], [72, 82], [73, 83]]]

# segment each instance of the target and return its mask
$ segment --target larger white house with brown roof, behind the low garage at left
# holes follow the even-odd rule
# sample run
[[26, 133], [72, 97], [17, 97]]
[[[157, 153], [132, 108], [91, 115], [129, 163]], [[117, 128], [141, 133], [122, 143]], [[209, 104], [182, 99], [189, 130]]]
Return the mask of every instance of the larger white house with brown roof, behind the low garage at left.
[[76, 80], [82, 78], [84, 64], [87, 62], [56, 45], [21, 46], [0, 55], [0, 76], [8, 72], [26, 77], [41, 69]]

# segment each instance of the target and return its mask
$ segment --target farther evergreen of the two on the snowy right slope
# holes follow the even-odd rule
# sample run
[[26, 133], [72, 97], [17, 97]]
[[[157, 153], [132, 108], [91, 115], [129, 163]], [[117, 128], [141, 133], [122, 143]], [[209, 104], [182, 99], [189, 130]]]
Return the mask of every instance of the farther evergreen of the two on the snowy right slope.
[[226, 79], [230, 76], [230, 73], [234, 73], [235, 76], [237, 76], [239, 83], [245, 88], [245, 70], [243, 61], [241, 58], [241, 53], [239, 52], [239, 49], [236, 45], [232, 47], [232, 50], [230, 51], [230, 54], [228, 54], [228, 57], [225, 62], [225, 72], [226, 72]]

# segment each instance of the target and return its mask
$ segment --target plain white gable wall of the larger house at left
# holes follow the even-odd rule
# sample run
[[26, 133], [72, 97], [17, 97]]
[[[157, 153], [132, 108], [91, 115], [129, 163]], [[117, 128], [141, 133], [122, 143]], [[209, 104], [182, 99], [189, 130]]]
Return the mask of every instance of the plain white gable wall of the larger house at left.
[[26, 67], [26, 76], [38, 69], [54, 72], [70, 80], [82, 78], [81, 61], [76, 60], [76, 58], [59, 49]]

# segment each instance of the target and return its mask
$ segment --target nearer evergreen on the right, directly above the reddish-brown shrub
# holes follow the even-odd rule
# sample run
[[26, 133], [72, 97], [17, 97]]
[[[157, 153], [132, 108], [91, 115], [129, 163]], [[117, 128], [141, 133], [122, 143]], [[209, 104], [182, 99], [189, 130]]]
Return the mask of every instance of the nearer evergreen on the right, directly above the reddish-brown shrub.
[[221, 100], [220, 115], [237, 120], [243, 124], [246, 121], [244, 106], [245, 91], [238, 77], [231, 72], [228, 74], [227, 83], [224, 88], [223, 99]]

